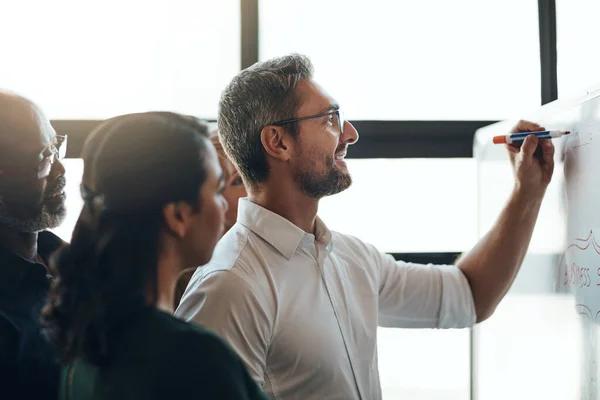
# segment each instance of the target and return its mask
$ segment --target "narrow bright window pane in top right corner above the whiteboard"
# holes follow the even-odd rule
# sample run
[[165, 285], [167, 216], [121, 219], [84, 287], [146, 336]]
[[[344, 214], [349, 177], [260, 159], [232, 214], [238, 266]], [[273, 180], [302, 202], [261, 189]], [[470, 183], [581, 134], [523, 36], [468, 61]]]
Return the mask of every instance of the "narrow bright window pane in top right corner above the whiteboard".
[[556, 52], [560, 98], [600, 87], [600, 3], [556, 0]]

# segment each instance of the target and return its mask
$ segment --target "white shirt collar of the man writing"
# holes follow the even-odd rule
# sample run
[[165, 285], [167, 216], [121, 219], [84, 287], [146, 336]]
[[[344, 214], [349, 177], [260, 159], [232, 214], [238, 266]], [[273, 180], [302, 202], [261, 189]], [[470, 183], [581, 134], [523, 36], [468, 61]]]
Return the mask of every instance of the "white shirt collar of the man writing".
[[[288, 260], [292, 258], [302, 239], [310, 235], [281, 215], [252, 203], [247, 198], [239, 200], [237, 222], [260, 236]], [[316, 219], [315, 233], [315, 239], [324, 243], [327, 251], [331, 251], [331, 231], [319, 217]]]

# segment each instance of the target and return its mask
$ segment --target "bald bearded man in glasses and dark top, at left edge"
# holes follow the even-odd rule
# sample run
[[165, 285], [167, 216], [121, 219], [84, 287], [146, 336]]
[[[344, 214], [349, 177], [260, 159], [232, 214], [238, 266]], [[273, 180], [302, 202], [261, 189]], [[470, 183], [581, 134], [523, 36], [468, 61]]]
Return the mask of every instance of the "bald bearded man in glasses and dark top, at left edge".
[[40, 312], [63, 242], [66, 138], [29, 100], [0, 91], [0, 398], [55, 399], [58, 366]]

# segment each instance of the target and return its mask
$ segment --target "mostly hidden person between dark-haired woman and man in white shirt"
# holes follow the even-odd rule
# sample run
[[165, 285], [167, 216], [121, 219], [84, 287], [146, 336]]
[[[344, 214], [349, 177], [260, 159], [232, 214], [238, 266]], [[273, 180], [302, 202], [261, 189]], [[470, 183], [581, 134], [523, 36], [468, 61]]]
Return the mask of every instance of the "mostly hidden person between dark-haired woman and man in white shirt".
[[[227, 201], [227, 213], [225, 214], [225, 233], [231, 229], [233, 224], [237, 219], [237, 206], [238, 201], [242, 197], [246, 197], [246, 188], [244, 187], [244, 182], [242, 181], [242, 177], [238, 172], [235, 165], [229, 160], [227, 154], [223, 150], [223, 145], [221, 145], [221, 141], [219, 140], [219, 136], [217, 132], [215, 132], [210, 141], [213, 146], [217, 150], [217, 154], [219, 155], [219, 164], [221, 166], [221, 170], [223, 171], [223, 177], [225, 178], [225, 189], [223, 190], [223, 197]], [[181, 301], [181, 297], [185, 292], [185, 289], [194, 275], [196, 268], [191, 268], [183, 271], [181, 276], [177, 280], [177, 287], [175, 288], [175, 303], [174, 306], [177, 308], [179, 302]]]

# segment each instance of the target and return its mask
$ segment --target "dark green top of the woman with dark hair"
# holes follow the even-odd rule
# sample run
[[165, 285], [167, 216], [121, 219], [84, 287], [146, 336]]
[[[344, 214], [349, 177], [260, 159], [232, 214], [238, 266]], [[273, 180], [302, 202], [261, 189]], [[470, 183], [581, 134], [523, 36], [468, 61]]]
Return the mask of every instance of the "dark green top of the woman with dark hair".
[[267, 400], [241, 359], [215, 334], [148, 308], [117, 334], [102, 367], [76, 361], [61, 376], [64, 400]]

